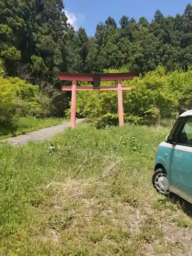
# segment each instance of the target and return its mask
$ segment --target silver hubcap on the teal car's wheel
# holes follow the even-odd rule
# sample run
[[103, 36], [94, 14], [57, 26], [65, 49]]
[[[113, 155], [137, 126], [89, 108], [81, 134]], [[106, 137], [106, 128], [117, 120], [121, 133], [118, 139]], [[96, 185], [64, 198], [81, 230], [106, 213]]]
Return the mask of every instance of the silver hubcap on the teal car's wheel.
[[155, 186], [161, 194], [169, 194], [169, 182], [166, 174], [158, 174], [155, 177]]

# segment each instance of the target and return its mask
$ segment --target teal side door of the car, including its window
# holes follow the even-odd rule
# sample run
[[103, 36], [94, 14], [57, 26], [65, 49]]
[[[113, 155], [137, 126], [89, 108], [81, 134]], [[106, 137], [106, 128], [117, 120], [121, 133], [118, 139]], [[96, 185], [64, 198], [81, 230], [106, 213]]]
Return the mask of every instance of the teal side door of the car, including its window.
[[184, 118], [170, 155], [171, 186], [192, 197], [192, 117]]

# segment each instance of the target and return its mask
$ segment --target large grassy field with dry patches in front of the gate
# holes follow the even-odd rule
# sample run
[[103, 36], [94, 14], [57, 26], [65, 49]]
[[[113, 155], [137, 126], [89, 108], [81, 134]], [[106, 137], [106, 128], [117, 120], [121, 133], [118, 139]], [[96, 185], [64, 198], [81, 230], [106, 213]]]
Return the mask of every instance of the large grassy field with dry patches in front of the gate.
[[191, 220], [151, 182], [167, 133], [80, 124], [0, 144], [0, 255], [190, 255]]

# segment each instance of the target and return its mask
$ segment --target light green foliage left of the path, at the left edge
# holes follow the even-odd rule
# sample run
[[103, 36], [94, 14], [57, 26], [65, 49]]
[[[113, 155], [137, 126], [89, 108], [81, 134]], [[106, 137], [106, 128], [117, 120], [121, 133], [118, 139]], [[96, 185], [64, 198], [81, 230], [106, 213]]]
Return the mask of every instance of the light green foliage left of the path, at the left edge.
[[4, 77], [0, 62], [0, 136], [13, 133], [19, 116], [46, 117], [53, 111], [51, 100], [37, 86], [18, 77]]

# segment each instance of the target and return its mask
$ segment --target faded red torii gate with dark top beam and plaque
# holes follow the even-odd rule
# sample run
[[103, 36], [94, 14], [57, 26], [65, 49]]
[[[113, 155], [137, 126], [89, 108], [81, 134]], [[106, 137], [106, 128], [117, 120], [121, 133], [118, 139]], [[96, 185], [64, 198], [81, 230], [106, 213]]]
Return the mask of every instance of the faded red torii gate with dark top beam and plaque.
[[[76, 125], [76, 91], [117, 91], [118, 96], [118, 112], [119, 112], [119, 126], [124, 125], [123, 118], [123, 98], [122, 91], [129, 91], [131, 87], [122, 86], [122, 80], [132, 80], [135, 72], [130, 73], [108, 73], [108, 74], [57, 74], [60, 80], [72, 81], [72, 86], [62, 86], [62, 91], [72, 91], [71, 98], [71, 127]], [[77, 86], [77, 81], [93, 82], [93, 87]], [[117, 81], [117, 86], [102, 86], [100, 81]]]

